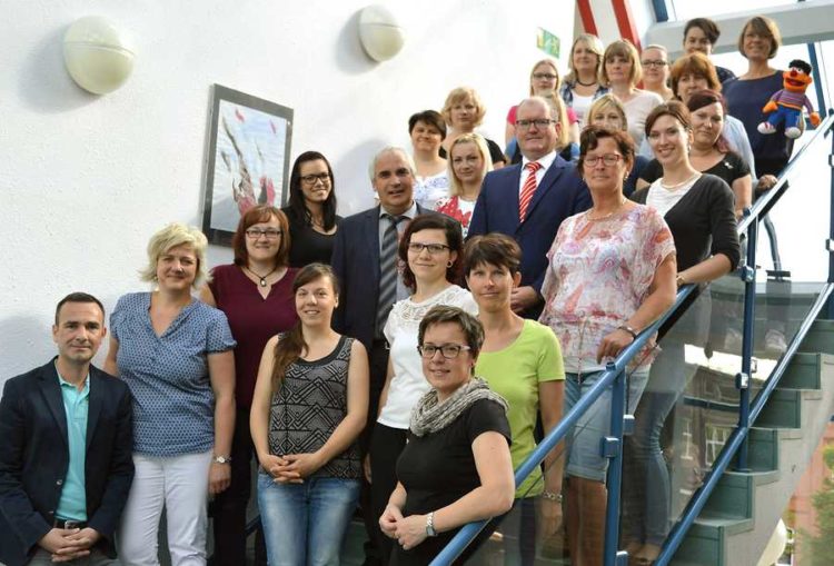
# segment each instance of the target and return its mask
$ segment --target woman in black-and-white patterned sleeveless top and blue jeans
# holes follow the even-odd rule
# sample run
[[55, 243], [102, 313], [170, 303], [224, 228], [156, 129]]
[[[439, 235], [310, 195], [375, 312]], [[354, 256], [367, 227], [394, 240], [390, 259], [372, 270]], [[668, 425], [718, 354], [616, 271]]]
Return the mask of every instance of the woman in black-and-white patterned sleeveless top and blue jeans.
[[359, 499], [368, 357], [330, 328], [329, 266], [301, 269], [292, 291], [299, 321], [267, 342], [252, 398], [258, 508], [270, 566], [338, 565]]

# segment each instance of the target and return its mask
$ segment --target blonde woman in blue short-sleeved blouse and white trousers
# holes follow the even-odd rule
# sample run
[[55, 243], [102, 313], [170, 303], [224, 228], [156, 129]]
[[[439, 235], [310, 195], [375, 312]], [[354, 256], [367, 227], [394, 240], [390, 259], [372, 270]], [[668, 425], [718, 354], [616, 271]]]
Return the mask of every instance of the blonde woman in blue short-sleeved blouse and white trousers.
[[133, 395], [136, 476], [119, 557], [158, 564], [166, 509], [171, 564], [206, 564], [208, 496], [229, 487], [235, 429], [235, 339], [226, 315], [191, 292], [207, 278], [206, 236], [172, 224], [148, 244], [150, 292], [119, 298], [105, 371]]

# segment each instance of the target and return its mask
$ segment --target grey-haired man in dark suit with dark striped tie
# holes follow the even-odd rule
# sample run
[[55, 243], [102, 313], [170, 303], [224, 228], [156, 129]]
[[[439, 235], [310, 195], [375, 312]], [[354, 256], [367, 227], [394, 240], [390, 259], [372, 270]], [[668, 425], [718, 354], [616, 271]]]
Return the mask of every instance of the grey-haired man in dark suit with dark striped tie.
[[[379, 408], [379, 395], [385, 385], [388, 367], [388, 347], [383, 328], [390, 305], [380, 305], [380, 279], [385, 261], [380, 261], [386, 230], [396, 222], [399, 235], [408, 220], [428, 212], [413, 199], [415, 167], [411, 157], [400, 148], [387, 147], [371, 161], [370, 182], [379, 198], [379, 206], [350, 216], [341, 221], [330, 265], [339, 278], [341, 292], [339, 308], [334, 317], [334, 328], [361, 341], [368, 350], [370, 363], [370, 397], [368, 426], [363, 433], [363, 450], [367, 450]], [[396, 250], [395, 250], [396, 254]], [[397, 276], [396, 300], [408, 297], [408, 289]], [[371, 542], [379, 533], [379, 517], [369, 513], [367, 485], [363, 489], [361, 505], [365, 527]], [[366, 545], [366, 565], [381, 564], [378, 555]]]

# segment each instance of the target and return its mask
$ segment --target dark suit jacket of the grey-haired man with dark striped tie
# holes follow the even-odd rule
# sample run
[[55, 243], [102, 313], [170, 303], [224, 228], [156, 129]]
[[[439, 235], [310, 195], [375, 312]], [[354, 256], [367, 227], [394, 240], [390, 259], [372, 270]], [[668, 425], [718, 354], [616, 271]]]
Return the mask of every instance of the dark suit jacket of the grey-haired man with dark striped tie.
[[[417, 214], [431, 210], [417, 205]], [[370, 351], [379, 299], [379, 207], [349, 216], [336, 230], [330, 266], [339, 278], [334, 329]]]

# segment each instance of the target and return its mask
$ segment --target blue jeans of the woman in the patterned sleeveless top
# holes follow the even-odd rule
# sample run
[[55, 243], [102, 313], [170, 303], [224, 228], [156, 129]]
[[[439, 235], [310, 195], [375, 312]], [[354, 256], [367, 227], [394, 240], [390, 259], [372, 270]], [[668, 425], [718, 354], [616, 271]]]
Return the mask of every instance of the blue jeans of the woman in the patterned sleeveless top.
[[269, 566], [338, 566], [359, 499], [358, 479], [308, 478], [277, 484], [258, 473], [258, 508]]

